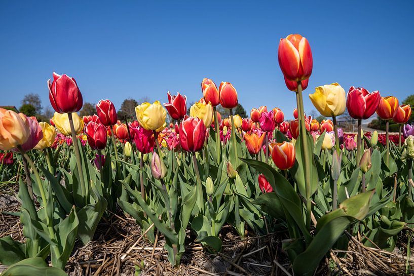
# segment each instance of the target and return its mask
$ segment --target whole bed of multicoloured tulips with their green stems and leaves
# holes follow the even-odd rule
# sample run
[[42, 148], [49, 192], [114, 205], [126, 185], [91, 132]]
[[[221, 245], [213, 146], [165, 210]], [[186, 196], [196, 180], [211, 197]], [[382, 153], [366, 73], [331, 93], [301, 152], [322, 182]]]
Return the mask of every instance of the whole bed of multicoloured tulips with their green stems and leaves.
[[[392, 251], [397, 234], [414, 222], [410, 106], [337, 83], [310, 94], [321, 123], [304, 114], [303, 90], [312, 72], [309, 42], [298, 34], [280, 41], [279, 64], [295, 92], [295, 120], [279, 108], [253, 108], [250, 119], [233, 115], [232, 84], [204, 78], [203, 97], [186, 114], [186, 97], [161, 105], [142, 103], [136, 121], [121, 123], [109, 100], [97, 115], [79, 117], [82, 94], [74, 78], [53, 74], [51, 124], [0, 109], [2, 174], [19, 178], [24, 244], [0, 239], [2, 275], [65, 275], [74, 244], [90, 242], [102, 216], [122, 211], [136, 220], [145, 238], [165, 237], [168, 260], [179, 265], [187, 229], [214, 253], [229, 224], [244, 237], [280, 231], [283, 251], [296, 275], [313, 275], [329, 250], [346, 250], [349, 235], [366, 246]], [[230, 109], [221, 118], [216, 106]], [[345, 109], [358, 120], [357, 135], [343, 134], [336, 116]], [[167, 111], [172, 117], [168, 127]], [[400, 134], [361, 131], [374, 112], [401, 124]], [[387, 123], [388, 126], [388, 123]], [[380, 141], [380, 143], [378, 143]], [[11, 160], [11, 161], [10, 161]], [[412, 224], [411, 224], [412, 225]], [[345, 232], [348, 232], [346, 235]], [[51, 267], [45, 260], [50, 256]], [[409, 267], [407, 267], [409, 269]]]

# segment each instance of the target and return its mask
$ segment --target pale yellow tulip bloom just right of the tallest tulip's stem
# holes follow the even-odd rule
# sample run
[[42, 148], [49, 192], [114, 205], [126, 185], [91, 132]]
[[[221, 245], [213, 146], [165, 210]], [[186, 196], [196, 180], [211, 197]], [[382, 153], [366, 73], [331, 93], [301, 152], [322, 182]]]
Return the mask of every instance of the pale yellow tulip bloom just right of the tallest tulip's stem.
[[347, 105], [345, 90], [338, 83], [318, 86], [314, 94], [309, 94], [309, 98], [325, 117], [341, 115]]

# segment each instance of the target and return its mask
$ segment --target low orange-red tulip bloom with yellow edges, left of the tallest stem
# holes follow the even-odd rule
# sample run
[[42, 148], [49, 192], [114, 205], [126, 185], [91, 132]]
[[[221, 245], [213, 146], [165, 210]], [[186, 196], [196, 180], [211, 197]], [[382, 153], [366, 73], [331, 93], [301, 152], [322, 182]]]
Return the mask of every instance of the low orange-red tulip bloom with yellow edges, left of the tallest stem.
[[288, 170], [296, 162], [295, 147], [293, 143], [283, 141], [282, 143], [271, 143], [271, 154], [273, 162], [280, 170]]

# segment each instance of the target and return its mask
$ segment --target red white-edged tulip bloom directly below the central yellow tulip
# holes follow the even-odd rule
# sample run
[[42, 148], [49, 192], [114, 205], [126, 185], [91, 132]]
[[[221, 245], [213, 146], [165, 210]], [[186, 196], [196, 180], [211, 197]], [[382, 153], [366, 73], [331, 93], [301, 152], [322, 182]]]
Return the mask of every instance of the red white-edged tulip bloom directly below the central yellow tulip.
[[199, 151], [206, 139], [206, 128], [203, 120], [189, 117], [180, 124], [180, 144], [185, 151]]

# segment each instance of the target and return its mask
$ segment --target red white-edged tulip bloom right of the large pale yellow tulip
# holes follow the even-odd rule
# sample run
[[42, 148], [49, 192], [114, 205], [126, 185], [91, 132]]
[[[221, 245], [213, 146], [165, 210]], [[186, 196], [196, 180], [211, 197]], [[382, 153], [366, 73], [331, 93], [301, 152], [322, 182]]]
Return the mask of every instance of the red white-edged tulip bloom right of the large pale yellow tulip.
[[351, 86], [347, 95], [347, 108], [349, 115], [354, 119], [368, 119], [377, 110], [380, 104], [380, 92], [369, 93], [364, 88]]

